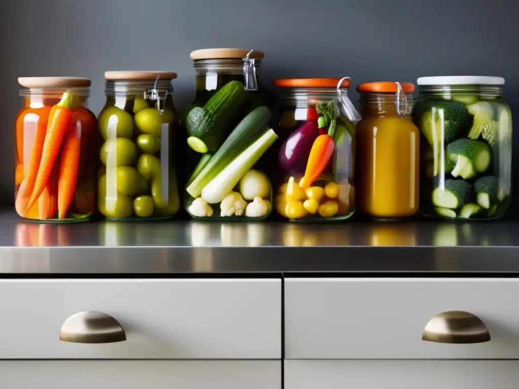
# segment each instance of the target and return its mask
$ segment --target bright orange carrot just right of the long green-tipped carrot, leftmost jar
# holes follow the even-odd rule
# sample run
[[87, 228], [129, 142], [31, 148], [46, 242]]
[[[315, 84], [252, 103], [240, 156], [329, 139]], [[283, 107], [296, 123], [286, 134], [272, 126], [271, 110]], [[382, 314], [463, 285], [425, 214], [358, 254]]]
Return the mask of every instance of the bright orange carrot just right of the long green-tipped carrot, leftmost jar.
[[66, 132], [60, 156], [58, 217], [64, 219], [74, 200], [81, 153], [81, 125], [73, 122]]

